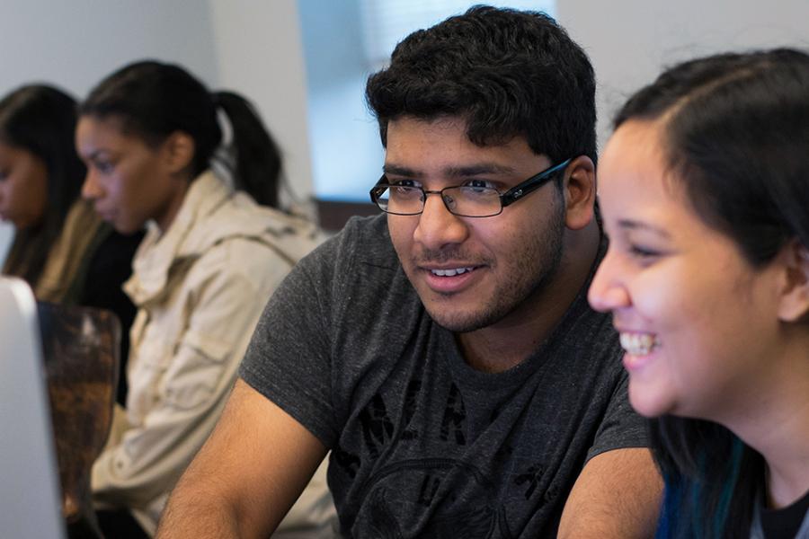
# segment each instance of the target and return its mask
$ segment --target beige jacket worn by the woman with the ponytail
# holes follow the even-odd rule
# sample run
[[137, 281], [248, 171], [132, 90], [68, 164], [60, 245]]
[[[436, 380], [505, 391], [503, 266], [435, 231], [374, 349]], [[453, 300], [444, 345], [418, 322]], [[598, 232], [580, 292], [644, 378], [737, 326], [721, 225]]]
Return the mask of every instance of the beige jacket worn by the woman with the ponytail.
[[[191, 183], [165, 234], [150, 228], [124, 284], [138, 306], [129, 396], [93, 466], [98, 507], [131, 508], [155, 533], [168, 492], [218, 420], [265, 303], [318, 239], [313, 226], [233, 194], [212, 172]], [[307, 508], [288, 520], [333, 515], [323, 471], [302, 498]]]

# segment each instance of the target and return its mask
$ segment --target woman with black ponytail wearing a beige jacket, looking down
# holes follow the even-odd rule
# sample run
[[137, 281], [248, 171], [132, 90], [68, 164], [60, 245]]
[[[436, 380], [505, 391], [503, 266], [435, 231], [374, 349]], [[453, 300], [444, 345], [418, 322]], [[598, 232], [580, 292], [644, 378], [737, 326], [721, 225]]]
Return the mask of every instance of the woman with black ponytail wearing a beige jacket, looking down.
[[[152, 535], [263, 306], [319, 233], [278, 208], [280, 154], [250, 104], [180, 66], [140, 61], [105, 78], [79, 108], [76, 147], [99, 215], [123, 233], [148, 227], [124, 285], [138, 306], [126, 409], [91, 486], [105, 535]], [[324, 480], [301, 504], [286, 527], [328, 525]]]

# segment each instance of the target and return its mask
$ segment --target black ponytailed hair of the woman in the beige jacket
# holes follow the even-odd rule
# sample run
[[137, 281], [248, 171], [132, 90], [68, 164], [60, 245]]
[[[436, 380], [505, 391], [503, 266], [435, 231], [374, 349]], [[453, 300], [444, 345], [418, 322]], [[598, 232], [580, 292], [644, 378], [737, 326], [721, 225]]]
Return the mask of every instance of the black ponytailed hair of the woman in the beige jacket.
[[91, 91], [79, 113], [120, 119], [124, 129], [152, 145], [175, 131], [188, 134], [195, 145], [191, 173], [196, 177], [219, 158], [223, 133], [218, 109], [227, 114], [233, 130], [229, 146], [236, 189], [278, 208], [280, 152], [253, 106], [236, 93], [210, 93], [180, 66], [154, 60], [124, 66]]

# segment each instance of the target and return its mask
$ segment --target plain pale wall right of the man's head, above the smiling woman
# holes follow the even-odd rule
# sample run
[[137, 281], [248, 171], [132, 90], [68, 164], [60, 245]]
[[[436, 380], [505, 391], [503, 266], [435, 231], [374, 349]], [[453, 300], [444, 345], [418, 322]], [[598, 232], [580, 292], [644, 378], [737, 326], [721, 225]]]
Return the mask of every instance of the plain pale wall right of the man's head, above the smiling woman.
[[595, 67], [600, 146], [618, 107], [664, 66], [731, 49], [809, 49], [805, 0], [557, 1], [558, 21]]

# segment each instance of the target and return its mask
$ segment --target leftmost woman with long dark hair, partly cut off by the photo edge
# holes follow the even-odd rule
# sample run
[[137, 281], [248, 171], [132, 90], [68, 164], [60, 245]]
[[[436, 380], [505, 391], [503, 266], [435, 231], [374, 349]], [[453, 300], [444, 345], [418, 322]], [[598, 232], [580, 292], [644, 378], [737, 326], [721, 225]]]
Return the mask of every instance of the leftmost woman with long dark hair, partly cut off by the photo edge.
[[[28, 84], [0, 101], [0, 217], [14, 226], [5, 275], [25, 279], [38, 300], [107, 309], [121, 324], [121, 373], [135, 305], [121, 285], [143, 238], [118, 234], [79, 197], [76, 101], [47, 84]], [[119, 376], [118, 401], [126, 400]]]

